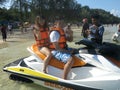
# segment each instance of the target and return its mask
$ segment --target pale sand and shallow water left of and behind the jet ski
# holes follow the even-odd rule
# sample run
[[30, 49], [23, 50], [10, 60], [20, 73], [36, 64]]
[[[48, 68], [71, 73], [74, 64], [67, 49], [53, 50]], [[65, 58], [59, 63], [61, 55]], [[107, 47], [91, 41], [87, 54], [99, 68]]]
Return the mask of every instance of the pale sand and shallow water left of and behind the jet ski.
[[[105, 27], [105, 30], [104, 41], [112, 42], [111, 37], [117, 31], [116, 26]], [[81, 28], [74, 27], [73, 31], [74, 42], [76, 42], [81, 39]], [[32, 31], [29, 30], [27, 33], [21, 34], [20, 31], [16, 30], [13, 35], [8, 35], [7, 42], [3, 42], [1, 38], [0, 34], [0, 90], [48, 90], [36, 84], [12, 81], [8, 74], [2, 70], [4, 65], [30, 55], [26, 48], [35, 43]], [[69, 46], [80, 47], [75, 45], [74, 42], [69, 43]]]

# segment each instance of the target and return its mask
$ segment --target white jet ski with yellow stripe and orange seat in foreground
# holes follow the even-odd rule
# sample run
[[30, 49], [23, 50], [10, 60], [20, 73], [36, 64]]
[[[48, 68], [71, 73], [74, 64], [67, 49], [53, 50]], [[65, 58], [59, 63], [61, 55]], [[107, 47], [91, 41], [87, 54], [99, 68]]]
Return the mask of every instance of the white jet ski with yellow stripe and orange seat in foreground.
[[105, 46], [108, 46], [108, 49], [109, 46], [114, 45], [106, 43], [99, 50], [79, 49], [79, 52], [73, 56], [74, 65], [67, 80], [61, 78], [64, 63], [54, 57], [49, 62], [47, 73], [42, 72], [45, 55], [35, 44], [27, 48], [31, 56], [9, 63], [3, 67], [3, 70], [9, 73], [9, 78], [12, 80], [36, 83], [55, 90], [118, 90], [120, 59], [107, 55], [104, 51]]

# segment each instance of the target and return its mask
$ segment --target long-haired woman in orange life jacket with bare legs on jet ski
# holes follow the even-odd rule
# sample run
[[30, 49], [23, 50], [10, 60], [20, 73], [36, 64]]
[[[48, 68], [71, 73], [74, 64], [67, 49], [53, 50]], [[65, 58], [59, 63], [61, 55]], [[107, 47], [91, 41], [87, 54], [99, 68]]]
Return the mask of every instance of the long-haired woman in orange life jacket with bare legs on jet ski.
[[48, 61], [51, 59], [52, 54], [49, 50], [49, 28], [44, 17], [37, 16], [33, 29], [36, 45], [41, 53], [46, 55], [43, 65], [43, 72], [46, 73]]

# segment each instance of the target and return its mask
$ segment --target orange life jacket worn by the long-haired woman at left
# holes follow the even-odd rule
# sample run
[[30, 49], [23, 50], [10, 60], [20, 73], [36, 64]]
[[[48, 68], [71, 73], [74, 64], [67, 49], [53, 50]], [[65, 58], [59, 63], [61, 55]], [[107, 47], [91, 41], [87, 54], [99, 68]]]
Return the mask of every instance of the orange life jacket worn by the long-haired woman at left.
[[40, 37], [41, 37], [40, 40], [38, 40], [38, 38], [34, 34], [37, 46], [39, 46], [39, 47], [48, 47], [49, 43], [50, 43], [49, 29], [48, 28], [40, 28], [39, 34], [40, 34]]

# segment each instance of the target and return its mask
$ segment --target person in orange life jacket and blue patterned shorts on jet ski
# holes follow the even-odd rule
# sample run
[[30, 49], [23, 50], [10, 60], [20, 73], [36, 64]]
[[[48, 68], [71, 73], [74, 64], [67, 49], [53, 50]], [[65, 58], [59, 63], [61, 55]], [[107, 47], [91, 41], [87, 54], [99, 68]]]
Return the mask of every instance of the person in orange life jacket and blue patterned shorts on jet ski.
[[63, 22], [61, 20], [56, 21], [56, 26], [54, 26], [50, 31], [51, 46], [53, 48], [52, 54], [59, 61], [65, 63], [63, 79], [67, 79], [67, 74], [72, 67], [74, 60], [70, 51], [66, 49], [66, 37], [63, 30]]

